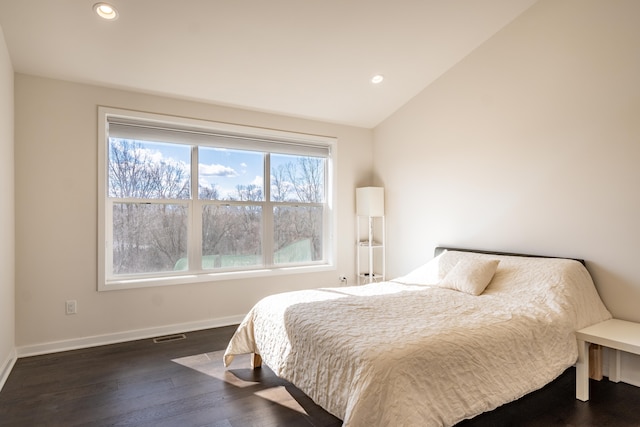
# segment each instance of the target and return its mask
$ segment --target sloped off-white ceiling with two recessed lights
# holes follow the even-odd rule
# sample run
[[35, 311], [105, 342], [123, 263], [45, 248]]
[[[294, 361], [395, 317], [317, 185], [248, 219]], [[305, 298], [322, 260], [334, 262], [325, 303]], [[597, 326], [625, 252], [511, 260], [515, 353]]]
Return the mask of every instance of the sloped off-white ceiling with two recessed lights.
[[96, 1], [0, 0], [14, 70], [373, 128], [536, 0]]

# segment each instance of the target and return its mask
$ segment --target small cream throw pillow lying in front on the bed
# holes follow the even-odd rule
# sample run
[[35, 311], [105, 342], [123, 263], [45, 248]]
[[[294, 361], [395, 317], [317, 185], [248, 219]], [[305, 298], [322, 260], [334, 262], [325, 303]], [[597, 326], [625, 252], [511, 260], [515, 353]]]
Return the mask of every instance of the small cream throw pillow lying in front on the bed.
[[470, 295], [480, 295], [493, 279], [499, 262], [497, 259], [461, 259], [438, 286]]

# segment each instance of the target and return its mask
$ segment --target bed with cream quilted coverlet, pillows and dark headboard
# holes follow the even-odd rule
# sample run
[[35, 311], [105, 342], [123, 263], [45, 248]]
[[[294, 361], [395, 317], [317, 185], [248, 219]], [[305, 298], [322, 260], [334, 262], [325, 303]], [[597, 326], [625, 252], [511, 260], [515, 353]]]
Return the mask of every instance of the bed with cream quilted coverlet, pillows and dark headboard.
[[388, 282], [264, 298], [224, 363], [256, 355], [347, 427], [450, 426], [551, 382], [609, 318], [579, 260], [436, 248]]

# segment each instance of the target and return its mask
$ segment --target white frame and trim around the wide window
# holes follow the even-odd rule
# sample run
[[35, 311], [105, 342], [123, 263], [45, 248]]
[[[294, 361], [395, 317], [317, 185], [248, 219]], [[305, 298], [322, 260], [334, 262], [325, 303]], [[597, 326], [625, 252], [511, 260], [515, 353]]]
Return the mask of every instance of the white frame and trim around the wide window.
[[[307, 144], [310, 147], [318, 146], [328, 149], [329, 156], [327, 158], [327, 168], [325, 176], [325, 199], [326, 213], [323, 223], [323, 250], [324, 256], [322, 262], [315, 262], [306, 265], [292, 266], [270, 266], [268, 268], [258, 268], [243, 271], [211, 271], [202, 270], [200, 268], [201, 248], [197, 248], [199, 240], [190, 239], [189, 242], [189, 259], [198, 257], [198, 270], [190, 272], [170, 272], [158, 273], [153, 275], [144, 275], [145, 277], [120, 277], [117, 279], [110, 278], [107, 269], [111, 267], [110, 257], [112, 251], [109, 242], [111, 241], [110, 232], [112, 227], [109, 224], [110, 213], [107, 212], [111, 206], [108, 197], [108, 149], [109, 149], [109, 121], [119, 120], [124, 123], [148, 123], [154, 126], [162, 126], [164, 128], [190, 129], [194, 130], [194, 134], [198, 131], [205, 133], [216, 133], [220, 135], [241, 135], [243, 138], [255, 138], [257, 141], [268, 142], [269, 140], [278, 143], [290, 142], [292, 144]], [[237, 148], [230, 146], [228, 148]], [[336, 270], [336, 179], [335, 179], [335, 163], [337, 161], [337, 139], [334, 137], [309, 135], [294, 133], [281, 130], [273, 130], [266, 128], [257, 128], [244, 125], [236, 125], [229, 123], [220, 123], [206, 120], [189, 119], [176, 116], [167, 116], [154, 113], [145, 113], [132, 110], [125, 110], [111, 107], [98, 107], [98, 291], [109, 291], [118, 289], [143, 288], [152, 286], [178, 285], [199, 282], [214, 282], [229, 279], [244, 279], [255, 277], [270, 277], [283, 274], [300, 274], [300, 273], [317, 273], [323, 271]], [[268, 168], [269, 165], [265, 165]], [[270, 168], [265, 169], [265, 173], [270, 173]], [[192, 181], [197, 181], [197, 175], [193, 176]], [[192, 188], [194, 186], [192, 185]], [[265, 185], [266, 187], [266, 185]], [[196, 186], [197, 189], [197, 186]], [[192, 192], [193, 193], [193, 192]], [[268, 197], [269, 190], [265, 188], [265, 196]], [[197, 192], [192, 194], [190, 200], [176, 201], [179, 203], [206, 204], [211, 201], [200, 201]], [[224, 202], [225, 204], [232, 202]], [[193, 211], [193, 210], [192, 210]], [[190, 235], [200, 230], [197, 224], [196, 215], [191, 215], [192, 221], [189, 224]], [[264, 220], [264, 216], [263, 216]], [[263, 224], [264, 236], [272, 235], [272, 224], [266, 221]], [[265, 238], [263, 236], [263, 239]], [[196, 240], [196, 241], [194, 241]], [[195, 254], [195, 255], [194, 255]], [[140, 275], [142, 276], [142, 275]]]

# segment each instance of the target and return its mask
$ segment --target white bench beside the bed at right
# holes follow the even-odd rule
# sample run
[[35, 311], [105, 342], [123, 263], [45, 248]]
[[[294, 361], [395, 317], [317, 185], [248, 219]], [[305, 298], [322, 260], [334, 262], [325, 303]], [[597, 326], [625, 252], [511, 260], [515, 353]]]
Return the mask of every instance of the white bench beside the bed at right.
[[576, 363], [576, 399], [589, 400], [589, 344], [613, 349], [609, 354], [609, 380], [620, 381], [620, 351], [640, 354], [640, 323], [611, 319], [576, 332], [578, 363]]

